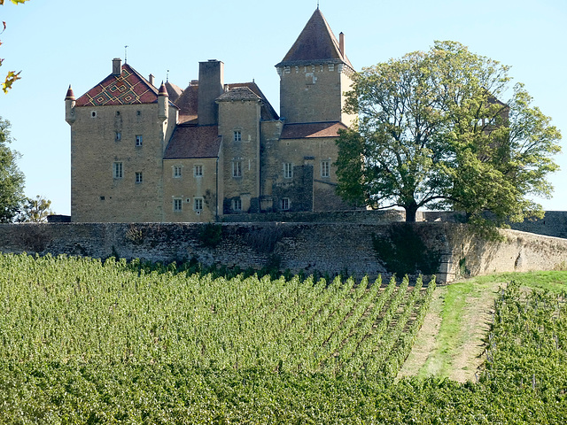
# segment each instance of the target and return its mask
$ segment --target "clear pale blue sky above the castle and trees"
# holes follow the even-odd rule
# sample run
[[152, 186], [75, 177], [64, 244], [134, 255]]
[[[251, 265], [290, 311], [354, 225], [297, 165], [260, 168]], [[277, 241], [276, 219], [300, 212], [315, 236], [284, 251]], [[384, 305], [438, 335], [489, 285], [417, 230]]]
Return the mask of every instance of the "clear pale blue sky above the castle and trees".
[[[279, 111], [274, 67], [315, 11], [316, 0], [5, 0], [0, 20], [0, 74], [20, 71], [8, 95], [0, 92], [0, 116], [12, 122], [12, 149], [23, 156], [28, 197], [43, 195], [57, 213], [70, 213], [70, 128], [64, 98], [76, 97], [124, 58], [147, 77], [185, 88], [198, 78], [198, 61], [225, 64], [225, 82], [254, 79]], [[453, 40], [480, 55], [512, 66], [542, 112], [553, 118], [567, 143], [567, 1], [526, 0], [321, 0], [335, 35], [346, 35], [353, 66], [371, 66], [428, 50], [434, 40]], [[4, 78], [4, 77], [3, 77]], [[567, 159], [551, 176], [548, 210], [567, 210]]]

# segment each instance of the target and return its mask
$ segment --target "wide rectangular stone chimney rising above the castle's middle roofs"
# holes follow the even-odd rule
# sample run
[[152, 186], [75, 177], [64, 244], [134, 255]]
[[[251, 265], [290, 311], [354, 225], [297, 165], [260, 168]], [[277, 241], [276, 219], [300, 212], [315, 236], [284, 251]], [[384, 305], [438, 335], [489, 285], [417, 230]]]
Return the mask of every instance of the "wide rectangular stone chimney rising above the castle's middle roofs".
[[219, 123], [219, 105], [214, 101], [224, 92], [224, 64], [209, 59], [198, 63], [197, 118], [199, 126]]

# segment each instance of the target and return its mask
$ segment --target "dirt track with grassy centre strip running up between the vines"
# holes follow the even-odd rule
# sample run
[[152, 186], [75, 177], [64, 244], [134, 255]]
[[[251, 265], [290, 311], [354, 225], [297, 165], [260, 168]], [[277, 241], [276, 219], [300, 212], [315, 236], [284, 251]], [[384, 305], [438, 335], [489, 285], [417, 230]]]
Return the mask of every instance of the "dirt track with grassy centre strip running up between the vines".
[[507, 273], [438, 286], [416, 344], [398, 377], [438, 376], [475, 380], [483, 359], [494, 298], [511, 280], [527, 288], [566, 290], [567, 272]]

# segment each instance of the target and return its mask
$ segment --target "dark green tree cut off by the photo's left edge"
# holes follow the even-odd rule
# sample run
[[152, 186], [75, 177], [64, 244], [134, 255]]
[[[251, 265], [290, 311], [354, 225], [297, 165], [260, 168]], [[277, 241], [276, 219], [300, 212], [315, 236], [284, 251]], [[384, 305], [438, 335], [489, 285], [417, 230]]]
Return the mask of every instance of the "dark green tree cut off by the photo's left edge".
[[8, 147], [11, 142], [10, 121], [0, 117], [0, 223], [11, 222], [25, 199], [24, 174], [17, 164], [19, 153]]

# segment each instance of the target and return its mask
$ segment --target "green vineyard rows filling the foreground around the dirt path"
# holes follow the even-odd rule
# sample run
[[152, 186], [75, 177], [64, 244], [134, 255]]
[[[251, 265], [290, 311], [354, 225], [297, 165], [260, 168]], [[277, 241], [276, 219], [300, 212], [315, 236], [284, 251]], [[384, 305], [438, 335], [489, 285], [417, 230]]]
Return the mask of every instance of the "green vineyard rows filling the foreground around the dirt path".
[[[0, 423], [553, 423], [563, 295], [509, 284], [477, 383], [394, 377], [435, 282], [0, 255]], [[560, 423], [561, 421], [556, 421]]]

